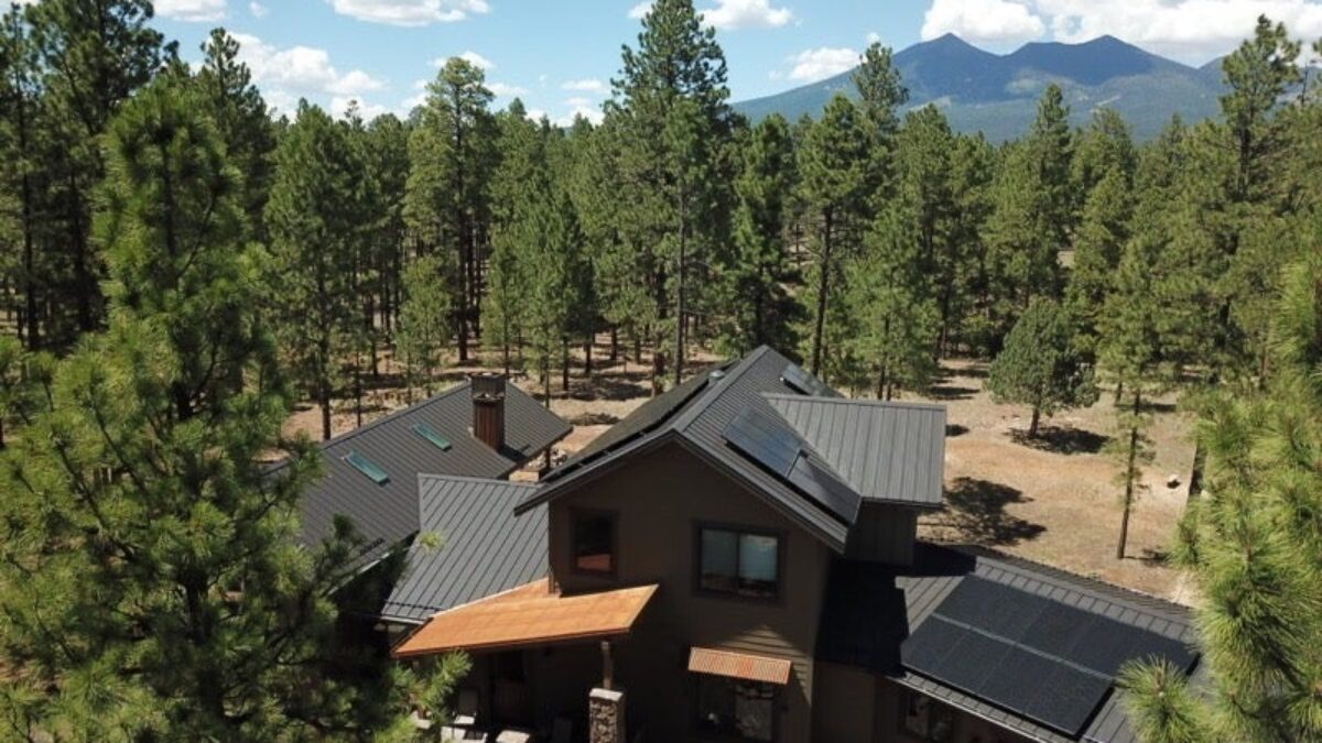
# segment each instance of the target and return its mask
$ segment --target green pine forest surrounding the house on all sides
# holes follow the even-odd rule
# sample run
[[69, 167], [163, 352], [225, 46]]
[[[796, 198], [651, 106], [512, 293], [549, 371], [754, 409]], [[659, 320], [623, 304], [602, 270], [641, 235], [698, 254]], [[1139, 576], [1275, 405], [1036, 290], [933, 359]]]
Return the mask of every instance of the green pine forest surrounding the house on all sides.
[[1030, 436], [1114, 395], [1126, 502], [1178, 399], [1199, 423], [1175, 558], [1218, 673], [1208, 697], [1132, 669], [1145, 738], [1322, 736], [1322, 41], [1245, 30], [1215, 120], [1071, 130], [1052, 85], [997, 143], [908, 107], [880, 45], [818, 116], [746, 120], [690, 0], [623, 48], [604, 120], [563, 128], [493, 110], [461, 58], [407, 119], [275, 118], [223, 29], [189, 65], [147, 0], [15, 5], [3, 736], [414, 735], [405, 699], [439, 710], [461, 658], [328, 650], [354, 535], [293, 546], [315, 443], [282, 423], [312, 401], [329, 438], [386, 358], [426, 394], [486, 353], [550, 395], [598, 337], [653, 394], [699, 350], [768, 344], [879, 399], [990, 361]]

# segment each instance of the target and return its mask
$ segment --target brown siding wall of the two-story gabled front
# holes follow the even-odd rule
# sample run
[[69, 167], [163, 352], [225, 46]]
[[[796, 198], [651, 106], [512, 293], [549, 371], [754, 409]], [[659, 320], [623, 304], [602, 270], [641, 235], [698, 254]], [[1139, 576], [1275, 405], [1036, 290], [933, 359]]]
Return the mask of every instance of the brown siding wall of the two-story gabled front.
[[[571, 509], [617, 514], [613, 579], [570, 570]], [[780, 534], [779, 600], [697, 594], [699, 522]], [[554, 501], [550, 510], [551, 576], [564, 592], [661, 584], [633, 636], [616, 650], [616, 680], [628, 694], [631, 723], [644, 723], [648, 740], [695, 738], [694, 680], [686, 669], [694, 645], [789, 658], [793, 673], [781, 689], [776, 739], [810, 740], [812, 654], [829, 559], [829, 549], [817, 538], [678, 444], [632, 459]], [[587, 690], [582, 693], [586, 702]]]

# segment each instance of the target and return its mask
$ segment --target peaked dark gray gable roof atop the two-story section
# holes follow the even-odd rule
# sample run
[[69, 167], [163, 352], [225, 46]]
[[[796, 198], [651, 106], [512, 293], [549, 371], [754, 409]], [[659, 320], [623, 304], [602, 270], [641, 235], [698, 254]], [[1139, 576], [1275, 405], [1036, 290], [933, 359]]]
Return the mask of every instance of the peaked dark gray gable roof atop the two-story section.
[[[632, 436], [616, 438], [615, 440], [619, 443], [613, 448], [599, 448], [592, 457], [566, 464], [563, 471], [553, 472], [546, 479], [545, 485], [520, 504], [520, 509], [533, 508], [559, 493], [568, 492], [578, 484], [620, 464], [632, 453], [650, 450], [666, 442], [677, 442], [714, 468], [746, 483], [755, 493], [764, 496], [772, 508], [798, 522], [837, 551], [843, 551], [851, 524], [842, 521], [829, 509], [805, 497], [784, 476], [764, 469], [747, 455], [732, 448], [723, 435], [726, 427], [740, 412], [758, 410], [779, 422], [784, 435], [798, 438], [798, 434], [772, 409], [765, 397], [768, 393], [793, 394], [796, 391], [781, 379], [781, 374], [789, 365], [789, 360], [784, 356], [761, 346], [723, 372], [719, 378], [709, 373], [703, 375], [701, 382], [690, 381], [701, 389], [694, 390], [686, 402], [672, 401], [664, 406], [665, 415], [657, 415], [656, 410], [644, 412], [642, 409], [633, 414], [648, 416], [649, 426], [635, 426], [631, 422], [633, 415], [625, 418], [619, 426], [628, 426], [639, 432]], [[657, 418], [660, 420], [656, 420]], [[802, 447], [804, 453], [814, 464], [830, 469], [830, 465], [812, 450], [812, 446], [802, 442]]]

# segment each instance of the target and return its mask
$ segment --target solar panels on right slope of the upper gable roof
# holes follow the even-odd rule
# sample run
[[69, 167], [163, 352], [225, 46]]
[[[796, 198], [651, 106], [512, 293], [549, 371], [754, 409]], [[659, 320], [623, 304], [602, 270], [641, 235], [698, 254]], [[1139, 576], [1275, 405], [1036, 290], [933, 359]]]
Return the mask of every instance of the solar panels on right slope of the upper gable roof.
[[723, 435], [730, 446], [787, 480], [836, 518], [854, 522], [862, 504], [859, 494], [830, 469], [809, 459], [798, 435], [783, 420], [748, 409], [726, 426]]

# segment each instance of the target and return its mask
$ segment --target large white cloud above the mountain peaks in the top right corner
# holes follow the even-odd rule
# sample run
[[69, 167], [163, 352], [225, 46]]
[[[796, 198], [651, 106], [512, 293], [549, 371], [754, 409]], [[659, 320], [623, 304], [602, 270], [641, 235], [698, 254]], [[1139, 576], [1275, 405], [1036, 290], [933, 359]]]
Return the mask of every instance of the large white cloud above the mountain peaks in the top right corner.
[[1206, 62], [1253, 33], [1257, 16], [1282, 21], [1296, 38], [1322, 37], [1314, 0], [1032, 0], [1058, 41], [1110, 34], [1178, 59]]

